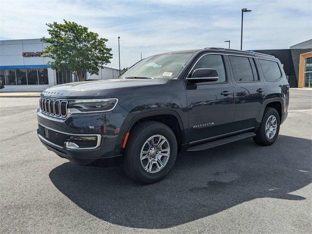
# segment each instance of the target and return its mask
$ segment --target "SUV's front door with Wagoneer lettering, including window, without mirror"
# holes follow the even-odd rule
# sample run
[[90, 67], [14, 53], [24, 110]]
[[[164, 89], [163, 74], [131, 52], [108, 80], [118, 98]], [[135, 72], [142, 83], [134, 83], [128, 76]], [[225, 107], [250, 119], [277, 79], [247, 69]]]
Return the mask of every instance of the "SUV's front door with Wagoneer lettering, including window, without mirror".
[[234, 88], [221, 54], [205, 54], [192, 68], [212, 68], [218, 73], [217, 81], [189, 84], [186, 81], [189, 132], [188, 141], [199, 143], [232, 132], [234, 119]]

